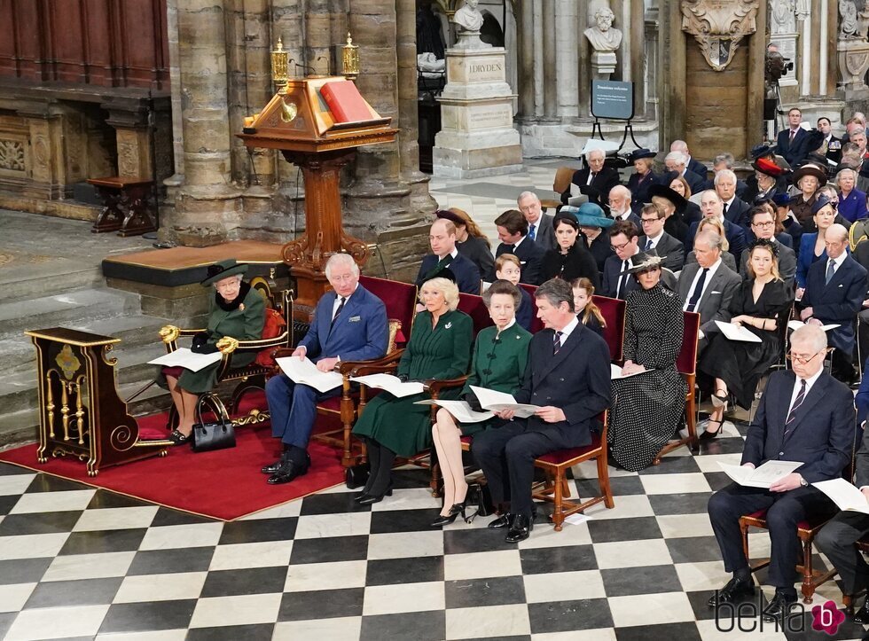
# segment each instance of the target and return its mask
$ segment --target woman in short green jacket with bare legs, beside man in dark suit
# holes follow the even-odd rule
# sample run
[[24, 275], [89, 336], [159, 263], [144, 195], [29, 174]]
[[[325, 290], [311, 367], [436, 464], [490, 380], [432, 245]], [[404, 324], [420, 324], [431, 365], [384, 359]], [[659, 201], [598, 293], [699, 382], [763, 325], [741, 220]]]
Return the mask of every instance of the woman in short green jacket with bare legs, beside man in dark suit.
[[[496, 280], [482, 294], [489, 309], [494, 327], [486, 327], [477, 334], [474, 343], [474, 358], [471, 375], [468, 377], [462, 397], [474, 410], [481, 410], [471, 386], [494, 389], [498, 392], [516, 394], [522, 384], [522, 374], [528, 363], [528, 343], [531, 334], [516, 322], [516, 309], [521, 301], [519, 288], [506, 280]], [[455, 418], [443, 408], [437, 412], [432, 426], [437, 459], [443, 474], [443, 509], [432, 522], [432, 527], [446, 525], [456, 520], [458, 514], [465, 519], [467, 504], [467, 481], [462, 465], [460, 437], [476, 434], [484, 429], [498, 426], [503, 421], [494, 417], [481, 423], [458, 426]]]

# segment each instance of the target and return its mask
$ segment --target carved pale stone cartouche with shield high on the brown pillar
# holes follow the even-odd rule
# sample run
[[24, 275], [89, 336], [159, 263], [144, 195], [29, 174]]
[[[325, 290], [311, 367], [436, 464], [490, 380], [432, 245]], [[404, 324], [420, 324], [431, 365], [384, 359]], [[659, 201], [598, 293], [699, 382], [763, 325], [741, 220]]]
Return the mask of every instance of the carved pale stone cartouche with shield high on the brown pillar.
[[682, 30], [716, 71], [730, 65], [740, 41], [755, 33], [758, 0], [682, 0]]

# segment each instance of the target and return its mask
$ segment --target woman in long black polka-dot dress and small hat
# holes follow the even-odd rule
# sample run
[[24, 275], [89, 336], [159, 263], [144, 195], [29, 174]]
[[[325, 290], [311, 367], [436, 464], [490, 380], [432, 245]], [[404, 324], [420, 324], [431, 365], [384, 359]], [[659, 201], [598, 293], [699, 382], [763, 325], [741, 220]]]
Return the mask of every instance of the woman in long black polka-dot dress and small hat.
[[687, 387], [676, 369], [682, 302], [660, 285], [660, 256], [639, 252], [630, 263], [640, 289], [628, 294], [622, 375], [638, 375], [613, 380], [607, 442], [615, 463], [636, 472], [652, 464], [681, 425]]

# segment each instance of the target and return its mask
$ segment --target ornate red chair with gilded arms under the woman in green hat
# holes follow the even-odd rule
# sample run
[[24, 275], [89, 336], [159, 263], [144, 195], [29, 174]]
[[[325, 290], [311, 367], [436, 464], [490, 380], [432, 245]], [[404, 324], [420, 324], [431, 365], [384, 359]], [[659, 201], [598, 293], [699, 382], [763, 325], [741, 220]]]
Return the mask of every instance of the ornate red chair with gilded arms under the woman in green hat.
[[[197, 420], [200, 423], [207, 422], [203, 420], [202, 415], [206, 410], [210, 410], [216, 418], [223, 421], [230, 421], [231, 415], [239, 409], [241, 398], [247, 392], [254, 389], [264, 389], [265, 380], [273, 373], [271, 367], [263, 366], [259, 363], [250, 363], [244, 367], [232, 367], [232, 356], [234, 354], [244, 354], [251, 352], [261, 352], [264, 349], [279, 349], [288, 348], [293, 340], [293, 291], [285, 290], [279, 293], [273, 292], [269, 283], [264, 278], [254, 278], [251, 281], [251, 286], [265, 299], [266, 307], [277, 309], [284, 317], [286, 326], [283, 332], [278, 336], [270, 339], [261, 340], [237, 340], [234, 341], [229, 348], [223, 349], [220, 364], [217, 370], [217, 384], [236, 381], [237, 385], [232, 390], [230, 397], [229, 409], [223, 403], [223, 400], [217, 394], [215, 389], [200, 395], [199, 402], [196, 404]], [[178, 339], [182, 337], [192, 337], [200, 332], [205, 332], [204, 328], [200, 329], [182, 329], [174, 325], [166, 325], [160, 329], [160, 340], [166, 345], [167, 352], [174, 352], [178, 348]], [[175, 405], [169, 409], [168, 427], [175, 426], [178, 418]], [[254, 408], [250, 410], [246, 416], [236, 418], [232, 422], [236, 425], [247, 425], [249, 423], [259, 423], [269, 419], [267, 408], [262, 410]]]

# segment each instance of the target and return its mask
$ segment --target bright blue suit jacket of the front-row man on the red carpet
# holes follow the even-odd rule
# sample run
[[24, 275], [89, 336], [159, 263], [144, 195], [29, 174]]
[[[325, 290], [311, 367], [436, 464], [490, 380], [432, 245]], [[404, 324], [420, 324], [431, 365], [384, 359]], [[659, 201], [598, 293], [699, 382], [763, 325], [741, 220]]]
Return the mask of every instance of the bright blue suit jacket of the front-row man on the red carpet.
[[308, 350], [306, 356], [317, 363], [321, 358], [335, 356], [342, 361], [367, 361], [386, 355], [389, 330], [383, 301], [358, 285], [333, 325], [335, 298], [335, 293], [329, 292], [317, 301], [310, 329], [299, 341]]

